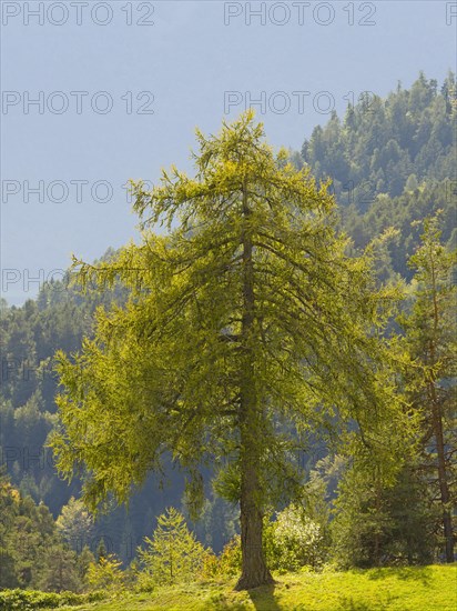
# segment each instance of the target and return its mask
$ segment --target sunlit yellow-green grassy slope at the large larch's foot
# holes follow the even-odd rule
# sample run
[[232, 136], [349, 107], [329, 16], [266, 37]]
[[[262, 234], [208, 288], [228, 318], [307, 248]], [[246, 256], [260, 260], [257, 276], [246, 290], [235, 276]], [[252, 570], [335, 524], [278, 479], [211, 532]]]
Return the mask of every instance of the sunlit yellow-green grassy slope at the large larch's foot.
[[[71, 607], [73, 611], [456, 611], [457, 565], [276, 575], [272, 588], [234, 592], [234, 582], [189, 583]], [[62, 609], [62, 608], [61, 608]]]

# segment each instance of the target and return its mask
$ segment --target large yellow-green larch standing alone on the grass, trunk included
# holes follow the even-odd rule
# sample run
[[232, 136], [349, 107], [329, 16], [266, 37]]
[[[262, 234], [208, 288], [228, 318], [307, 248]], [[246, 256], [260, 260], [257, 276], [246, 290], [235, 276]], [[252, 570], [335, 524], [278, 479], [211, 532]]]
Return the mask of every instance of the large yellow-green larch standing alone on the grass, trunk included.
[[247, 589], [273, 581], [263, 514], [301, 481], [299, 440], [337, 414], [373, 439], [402, 418], [380, 339], [394, 297], [368, 256], [347, 257], [328, 184], [274, 153], [252, 111], [197, 142], [194, 178], [173, 167], [151, 191], [133, 184], [140, 244], [74, 259], [82, 286], [120, 282], [130, 299], [98, 310], [79, 354], [58, 354], [51, 444], [91, 507], [125, 501], [166, 455], [197, 512], [211, 465], [240, 502]]

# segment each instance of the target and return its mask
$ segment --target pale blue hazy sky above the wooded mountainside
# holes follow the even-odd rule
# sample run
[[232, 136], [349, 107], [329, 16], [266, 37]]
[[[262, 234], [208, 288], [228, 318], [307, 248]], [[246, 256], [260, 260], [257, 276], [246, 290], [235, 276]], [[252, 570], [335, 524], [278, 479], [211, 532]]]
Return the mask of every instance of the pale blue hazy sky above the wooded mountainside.
[[[261, 2], [88, 0], [43, 2], [40, 9], [40, 2], [30, 1], [30, 9], [42, 11], [43, 24], [32, 16], [27, 23], [24, 2], [1, 3], [1, 267], [2, 297], [10, 303], [33, 297], [38, 283], [28, 277], [47, 278], [67, 268], [71, 252], [92, 260], [135, 237], [136, 218], [122, 184], [129, 178], [155, 180], [160, 168], [173, 162], [190, 170], [194, 128], [219, 129], [224, 92], [240, 92], [231, 98], [241, 100], [232, 107], [235, 116], [245, 108], [246, 92], [256, 99], [264, 91], [266, 112], [257, 107], [257, 117], [270, 141], [299, 149], [313, 127], [328, 118], [315, 104], [325, 110], [334, 100], [343, 111], [349, 91], [385, 96], [398, 80], [409, 87], [419, 70], [439, 82], [455, 70], [455, 2], [309, 1], [302, 8], [266, 2], [265, 24], [255, 16], [248, 24], [246, 4], [255, 10]], [[281, 26], [287, 12], [288, 22]], [[65, 17], [65, 23], [55, 24]], [[94, 22], [110, 18], [105, 26]], [[139, 19], [153, 26], [139, 26]], [[363, 26], [364, 20], [374, 24]], [[43, 112], [29, 106], [26, 114], [27, 96], [33, 99], [40, 91]], [[88, 92], [80, 96], [81, 113], [72, 91]], [[108, 98], [95, 96], [99, 110], [106, 99], [113, 103], [105, 114], [90, 103], [100, 91]], [[150, 93], [136, 100], [142, 91], [154, 100]], [[297, 91], [309, 94], [293, 94]], [[68, 110], [57, 113], [65, 101]], [[126, 112], [130, 102], [132, 113]], [[288, 111], [272, 111], [271, 106], [281, 110], [286, 102]], [[154, 113], [138, 114], [140, 106]], [[31, 188], [42, 181], [43, 202], [32, 192], [24, 201], [27, 181]], [[64, 182], [67, 201], [57, 201], [63, 187], [52, 181]], [[112, 184], [105, 203], [98, 181]]]

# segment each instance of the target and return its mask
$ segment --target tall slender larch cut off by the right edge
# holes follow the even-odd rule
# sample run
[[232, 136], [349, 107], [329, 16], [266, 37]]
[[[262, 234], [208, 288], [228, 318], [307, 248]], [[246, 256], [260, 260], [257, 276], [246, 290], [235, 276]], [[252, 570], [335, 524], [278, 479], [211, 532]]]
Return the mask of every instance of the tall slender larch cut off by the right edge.
[[[400, 317], [412, 363], [409, 400], [422, 418], [422, 465], [438, 501], [446, 562], [454, 562], [453, 511], [457, 501], [456, 306], [453, 279], [457, 251], [440, 243], [438, 217], [424, 221], [422, 244], [409, 259], [415, 269], [412, 311]], [[425, 469], [424, 469], [425, 468]]]

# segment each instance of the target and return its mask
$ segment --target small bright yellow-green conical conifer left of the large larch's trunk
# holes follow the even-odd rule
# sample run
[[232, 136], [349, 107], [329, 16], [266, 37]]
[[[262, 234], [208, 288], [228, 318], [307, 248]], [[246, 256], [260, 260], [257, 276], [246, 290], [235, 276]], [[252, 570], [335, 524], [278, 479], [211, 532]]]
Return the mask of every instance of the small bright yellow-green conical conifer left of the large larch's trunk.
[[153, 584], [176, 583], [195, 577], [203, 567], [205, 549], [189, 531], [184, 517], [169, 508], [159, 517], [152, 539], [145, 537], [146, 549], [139, 548], [146, 580]]

